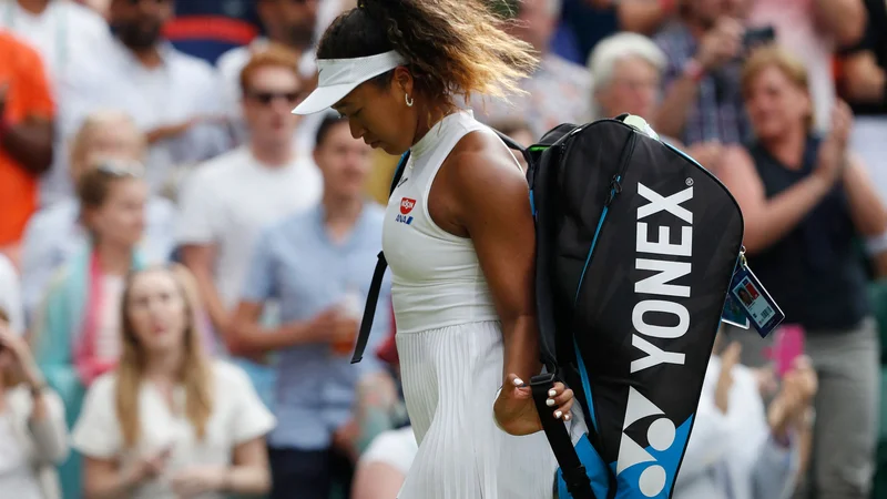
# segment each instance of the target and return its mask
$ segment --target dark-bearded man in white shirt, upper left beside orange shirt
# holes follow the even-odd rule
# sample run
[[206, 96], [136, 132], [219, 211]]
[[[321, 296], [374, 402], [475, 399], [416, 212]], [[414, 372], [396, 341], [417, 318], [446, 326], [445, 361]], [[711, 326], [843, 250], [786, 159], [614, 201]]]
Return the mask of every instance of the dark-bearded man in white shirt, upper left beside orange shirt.
[[[68, 79], [60, 99], [63, 139], [99, 108], [133, 116], [147, 135], [146, 179], [154, 193], [175, 180], [176, 166], [211, 159], [231, 145], [212, 65], [177, 51], [161, 35], [174, 3], [112, 0], [114, 37]], [[67, 164], [59, 164], [67, 155], [58, 156], [53, 173], [68, 172]], [[70, 193], [70, 182], [64, 183], [59, 194]]]

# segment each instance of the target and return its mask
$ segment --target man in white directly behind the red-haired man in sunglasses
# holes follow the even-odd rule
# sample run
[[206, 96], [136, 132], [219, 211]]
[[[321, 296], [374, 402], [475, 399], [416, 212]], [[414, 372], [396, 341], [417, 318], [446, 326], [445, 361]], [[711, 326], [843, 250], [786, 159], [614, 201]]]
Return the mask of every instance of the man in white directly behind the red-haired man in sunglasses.
[[[228, 118], [234, 124], [237, 143], [247, 140], [247, 130], [241, 114], [241, 89], [237, 75], [253, 53], [268, 43], [279, 43], [302, 55], [299, 72], [306, 82], [315, 78], [314, 50], [317, 33], [353, 0], [258, 0], [257, 11], [267, 38], [258, 38], [249, 45], [232, 49], [216, 63], [224, 82], [224, 102]], [[308, 89], [310, 90], [310, 89]], [[296, 139], [304, 150], [314, 147], [314, 136], [320, 115], [306, 116], [296, 131]]]

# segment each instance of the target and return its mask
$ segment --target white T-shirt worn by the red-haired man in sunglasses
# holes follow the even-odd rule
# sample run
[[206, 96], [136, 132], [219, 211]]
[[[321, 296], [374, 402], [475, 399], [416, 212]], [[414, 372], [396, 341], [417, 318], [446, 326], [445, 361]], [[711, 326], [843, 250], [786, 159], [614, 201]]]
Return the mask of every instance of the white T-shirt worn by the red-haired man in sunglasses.
[[323, 176], [313, 161], [266, 166], [248, 147], [201, 165], [180, 195], [180, 245], [216, 245], [215, 285], [224, 305], [236, 305], [262, 230], [320, 201]]

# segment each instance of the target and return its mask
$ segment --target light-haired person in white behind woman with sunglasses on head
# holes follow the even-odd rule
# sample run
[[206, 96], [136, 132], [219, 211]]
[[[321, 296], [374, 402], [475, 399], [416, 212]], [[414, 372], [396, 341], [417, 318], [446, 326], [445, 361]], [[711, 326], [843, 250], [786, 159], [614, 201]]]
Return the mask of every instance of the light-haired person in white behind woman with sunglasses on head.
[[[100, 110], [88, 116], [71, 141], [70, 174], [74, 185], [101, 162], [141, 162], [145, 136], [132, 118], [115, 110]], [[145, 207], [144, 254], [149, 262], [162, 262], [173, 248], [172, 222], [175, 206], [169, 200], [150, 196]], [[75, 197], [53, 203], [28, 223], [22, 251], [22, 294], [28, 318], [43, 298], [52, 275], [84, 244], [89, 231], [80, 223]]]

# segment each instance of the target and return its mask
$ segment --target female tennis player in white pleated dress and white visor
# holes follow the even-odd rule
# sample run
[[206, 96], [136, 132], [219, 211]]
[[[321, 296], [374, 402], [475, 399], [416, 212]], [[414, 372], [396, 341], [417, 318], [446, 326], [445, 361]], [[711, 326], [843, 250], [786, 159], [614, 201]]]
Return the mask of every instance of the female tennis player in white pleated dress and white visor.
[[[483, 0], [361, 0], [327, 29], [318, 88], [294, 110], [333, 108], [355, 138], [410, 150], [383, 237], [419, 444], [400, 499], [552, 496], [557, 462], [529, 388], [541, 365], [528, 186], [501, 140], [457, 105], [506, 96], [534, 69], [531, 47], [500, 24]], [[572, 391], [549, 394], [570, 420]]]

